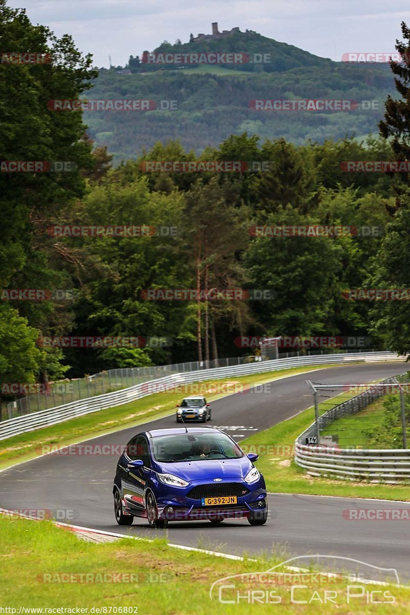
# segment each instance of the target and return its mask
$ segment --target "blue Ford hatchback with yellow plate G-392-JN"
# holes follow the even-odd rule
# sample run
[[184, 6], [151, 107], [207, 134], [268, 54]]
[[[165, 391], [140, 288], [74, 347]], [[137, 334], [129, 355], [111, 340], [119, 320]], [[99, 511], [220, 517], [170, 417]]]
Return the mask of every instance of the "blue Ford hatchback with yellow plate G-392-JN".
[[141, 432], [128, 442], [114, 479], [119, 525], [144, 517], [154, 528], [168, 521], [246, 517], [267, 520], [266, 485], [253, 462], [258, 455], [215, 428], [179, 427]]

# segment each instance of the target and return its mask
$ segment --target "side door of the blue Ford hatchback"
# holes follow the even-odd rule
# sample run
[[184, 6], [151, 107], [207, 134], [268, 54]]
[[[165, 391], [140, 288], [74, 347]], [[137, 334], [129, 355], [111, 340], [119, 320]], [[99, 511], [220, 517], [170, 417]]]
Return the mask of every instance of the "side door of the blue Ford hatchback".
[[136, 514], [141, 514], [145, 509], [144, 494], [146, 483], [151, 475], [151, 461], [149, 459], [148, 442], [143, 435], [137, 435], [127, 446], [126, 456], [129, 461], [142, 459], [143, 467], [127, 468], [127, 479], [124, 481], [122, 493], [125, 502]]

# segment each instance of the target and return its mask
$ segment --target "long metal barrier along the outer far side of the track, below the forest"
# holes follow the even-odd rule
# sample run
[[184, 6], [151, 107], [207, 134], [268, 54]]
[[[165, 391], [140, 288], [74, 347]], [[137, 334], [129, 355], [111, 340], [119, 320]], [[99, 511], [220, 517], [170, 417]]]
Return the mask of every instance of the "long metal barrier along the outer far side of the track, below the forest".
[[[171, 384], [175, 384], [176, 386], [178, 384], [202, 382], [213, 378], [245, 376], [264, 373], [265, 371], [283, 370], [290, 367], [302, 367], [304, 365], [341, 365], [343, 363], [353, 362], [366, 363], [400, 360], [404, 360], [404, 357], [400, 357], [394, 352], [325, 354], [314, 355], [313, 357], [292, 357], [290, 359], [245, 363], [243, 365], [218, 367], [211, 370], [187, 371], [165, 376], [165, 378], [151, 380], [149, 382], [162, 384], [165, 387]], [[76, 416], [87, 415], [91, 412], [104, 410], [104, 408], [112, 408], [120, 406], [123, 403], [141, 399], [141, 397], [146, 397], [146, 395], [151, 394], [146, 391], [146, 388], [146, 383], [140, 383], [128, 387], [127, 389], [121, 389], [120, 391], [98, 395], [97, 397], [89, 397], [76, 402], [66, 403], [56, 408], [49, 408], [48, 410], [33, 412], [30, 415], [17, 416], [7, 421], [2, 421], [2, 423], [0, 423], [0, 440], [28, 431], [34, 431], [35, 429], [41, 429], [41, 427], [62, 423]]]

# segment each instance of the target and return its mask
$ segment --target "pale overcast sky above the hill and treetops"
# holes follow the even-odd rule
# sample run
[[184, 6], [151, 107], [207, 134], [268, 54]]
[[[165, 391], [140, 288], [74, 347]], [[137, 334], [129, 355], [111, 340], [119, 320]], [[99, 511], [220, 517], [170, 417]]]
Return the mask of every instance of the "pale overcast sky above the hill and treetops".
[[[189, 40], [239, 26], [341, 60], [346, 52], [393, 52], [400, 23], [410, 25], [410, 6], [398, 0], [9, 0], [25, 7], [34, 24], [58, 36], [71, 34], [95, 65], [125, 65], [130, 55], [152, 51], [165, 39]], [[243, 50], [246, 52], [246, 49]]]

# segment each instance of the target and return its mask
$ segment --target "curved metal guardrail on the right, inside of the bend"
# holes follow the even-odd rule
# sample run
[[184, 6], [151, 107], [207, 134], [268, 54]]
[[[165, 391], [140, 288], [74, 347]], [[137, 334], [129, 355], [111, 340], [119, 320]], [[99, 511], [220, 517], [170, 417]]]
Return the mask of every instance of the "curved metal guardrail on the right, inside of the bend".
[[[379, 384], [404, 382], [408, 373], [387, 378]], [[353, 415], [374, 402], [382, 393], [365, 391], [342, 402], [319, 417], [319, 428], [329, 426], [336, 419]], [[410, 480], [410, 450], [339, 448], [337, 445], [306, 445], [302, 440], [316, 434], [312, 423], [295, 442], [294, 460], [313, 476], [330, 476], [349, 480], [369, 480], [373, 483], [401, 483]]]

